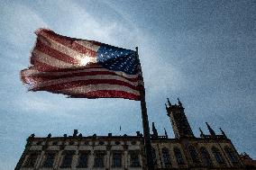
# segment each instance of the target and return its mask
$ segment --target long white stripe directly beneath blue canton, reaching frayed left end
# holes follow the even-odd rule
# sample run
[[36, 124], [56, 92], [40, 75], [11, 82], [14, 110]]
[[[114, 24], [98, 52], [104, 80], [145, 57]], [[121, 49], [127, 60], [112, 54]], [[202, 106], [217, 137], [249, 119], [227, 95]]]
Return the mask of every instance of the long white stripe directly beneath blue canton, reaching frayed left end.
[[[94, 66], [92, 66], [94, 67]], [[93, 71], [108, 71], [108, 72], [113, 72], [119, 76], [123, 76], [125, 78], [137, 78], [138, 76], [142, 76], [142, 72], [137, 73], [135, 75], [127, 75], [123, 73], [122, 71], [112, 71], [103, 67], [99, 68], [90, 68], [90, 69], [84, 69], [84, 70], [74, 70], [74, 71], [65, 71], [65, 72], [41, 72], [37, 71], [34, 69], [26, 69], [23, 70], [23, 75], [24, 76], [63, 76], [63, 75], [68, 75], [68, 74], [75, 74], [75, 73], [89, 73]]]

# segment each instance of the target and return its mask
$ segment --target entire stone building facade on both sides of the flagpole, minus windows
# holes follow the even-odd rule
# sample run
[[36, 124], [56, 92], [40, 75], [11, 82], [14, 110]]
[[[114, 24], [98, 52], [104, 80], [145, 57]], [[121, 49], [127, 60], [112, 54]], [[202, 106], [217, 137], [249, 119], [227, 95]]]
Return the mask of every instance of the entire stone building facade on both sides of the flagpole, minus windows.
[[[199, 162], [196, 164], [193, 162], [189, 153], [189, 146], [193, 146], [196, 149]], [[212, 161], [212, 166], [206, 166], [203, 164], [200, 148], [206, 148]], [[217, 148], [224, 158], [224, 164], [217, 163], [212, 148]], [[232, 148], [238, 157], [237, 163], [232, 163], [230, 157], [224, 151], [224, 148]], [[239, 158], [235, 148], [229, 139], [152, 139], [152, 148], [156, 153], [156, 169], [244, 169], [241, 159]], [[164, 157], [162, 149], [167, 148], [169, 150], [170, 165], [164, 164]], [[180, 150], [183, 157], [184, 164], [178, 164], [177, 157], [174, 153], [174, 148]], [[46, 158], [46, 153], [55, 152], [53, 168], [43, 168], [43, 162]], [[65, 153], [67, 151], [74, 151], [72, 159], [72, 166], [70, 168], [62, 168], [61, 163]], [[88, 161], [87, 168], [78, 168], [78, 157], [80, 151], [87, 151]], [[103, 151], [104, 167], [95, 167], [95, 154], [97, 151]], [[139, 154], [140, 165], [138, 167], [131, 166], [131, 152], [137, 152]], [[122, 166], [113, 167], [113, 153], [119, 152], [122, 155]], [[26, 160], [31, 153], [38, 153], [40, 156], [37, 158], [34, 168], [24, 167]], [[17, 166], [16, 170], [50, 170], [50, 169], [131, 169], [139, 170], [146, 169], [145, 154], [143, 151], [142, 137], [96, 137], [96, 138], [30, 138], [27, 147], [24, 151], [24, 157], [20, 160], [21, 167]], [[19, 165], [19, 164], [18, 164]]]

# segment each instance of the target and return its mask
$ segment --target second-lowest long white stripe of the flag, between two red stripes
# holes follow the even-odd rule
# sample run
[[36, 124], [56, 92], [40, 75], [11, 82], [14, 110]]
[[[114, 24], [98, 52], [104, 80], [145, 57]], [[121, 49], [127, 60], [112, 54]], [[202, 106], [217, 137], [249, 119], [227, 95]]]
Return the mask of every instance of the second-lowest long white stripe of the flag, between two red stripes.
[[80, 80], [105, 80], [105, 79], [106, 80], [120, 80], [120, 81], [123, 81], [123, 82], [125, 82], [129, 85], [133, 85], [133, 86], [143, 85], [142, 81], [131, 82], [121, 76], [96, 75], [96, 76], [72, 76], [72, 77], [67, 77], [67, 78], [65, 78], [65, 77], [57, 78], [57, 79], [53, 79], [53, 80], [49, 80], [49, 81], [40, 82], [38, 85], [34, 85], [33, 88], [41, 88], [41, 87], [49, 86], [49, 85], [59, 85], [59, 84], [64, 84], [64, 83], [69, 83], [69, 82], [80, 81]]

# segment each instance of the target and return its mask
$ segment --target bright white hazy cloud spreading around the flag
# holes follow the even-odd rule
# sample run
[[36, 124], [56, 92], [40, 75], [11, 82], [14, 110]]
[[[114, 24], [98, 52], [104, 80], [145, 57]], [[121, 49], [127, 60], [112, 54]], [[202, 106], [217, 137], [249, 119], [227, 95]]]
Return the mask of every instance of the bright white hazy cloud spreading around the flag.
[[[51, 8], [46, 9], [45, 6], [51, 6]], [[10, 13], [10, 9], [13, 9], [14, 13]], [[48, 27], [57, 33], [70, 37], [98, 40], [126, 49], [139, 46], [141, 47], [139, 53], [142, 60], [142, 70], [145, 73], [144, 81], [151, 96], [157, 95], [160, 91], [166, 92], [169, 88], [174, 90], [180, 86], [179, 78], [181, 76], [179, 76], [178, 69], [166, 63], [158, 55], [159, 49], [152, 48], [155, 46], [155, 40], [147, 32], [142, 32], [135, 24], [131, 24], [133, 21], [127, 19], [127, 16], [123, 13], [118, 13], [118, 11], [116, 11], [117, 14], [115, 13], [115, 15], [119, 14], [118, 17], [122, 18], [123, 22], [116, 22], [116, 20], [106, 22], [104, 17], [97, 18], [95, 15], [87, 13], [86, 7], [79, 6], [71, 1], [65, 1], [65, 3], [62, 1], [39, 2], [37, 8], [32, 9], [32, 7], [23, 4], [7, 4], [3, 8], [2, 13], [5, 14], [5, 17], [3, 17], [5, 19], [1, 21], [3, 23], [1, 27], [5, 30], [5, 39], [18, 46], [19, 49], [28, 50], [32, 48], [35, 40], [33, 31], [40, 27]], [[42, 14], [50, 13], [52, 9], [57, 9], [59, 13], [50, 16], [54, 22], [48, 21], [49, 24], [47, 24], [42, 19], [44, 16]], [[43, 10], [46, 11], [42, 13]], [[84, 104], [79, 105], [81, 100], [72, 100], [72, 102], [69, 102], [72, 106], [63, 109], [62, 106], [68, 103], [64, 95], [61, 97], [54, 95], [56, 98], [51, 96], [53, 95], [23, 94], [14, 101], [23, 112], [55, 111], [56, 115], [70, 115], [69, 112], [78, 112], [78, 108], [81, 110], [83, 107], [87, 107]], [[59, 103], [54, 103], [55, 100]], [[90, 103], [90, 106], [86, 108], [87, 111], [114, 107], [114, 103], [105, 104], [103, 107], [97, 104], [97, 100], [88, 101], [87, 103]], [[126, 102], [115, 103], [126, 104]], [[126, 105], [129, 105], [129, 102]]]

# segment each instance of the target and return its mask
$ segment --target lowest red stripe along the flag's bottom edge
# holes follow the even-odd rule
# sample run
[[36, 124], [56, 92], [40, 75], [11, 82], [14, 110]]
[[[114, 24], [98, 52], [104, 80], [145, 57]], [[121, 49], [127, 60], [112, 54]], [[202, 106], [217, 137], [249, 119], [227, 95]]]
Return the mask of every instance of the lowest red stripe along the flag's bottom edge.
[[86, 98], [123, 98], [123, 99], [130, 99], [135, 101], [140, 101], [140, 95], [130, 94], [123, 91], [114, 91], [114, 90], [97, 90], [95, 92], [89, 92], [87, 94], [68, 94], [69, 97], [86, 97]]

